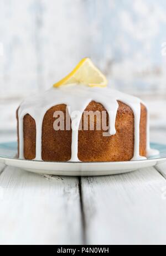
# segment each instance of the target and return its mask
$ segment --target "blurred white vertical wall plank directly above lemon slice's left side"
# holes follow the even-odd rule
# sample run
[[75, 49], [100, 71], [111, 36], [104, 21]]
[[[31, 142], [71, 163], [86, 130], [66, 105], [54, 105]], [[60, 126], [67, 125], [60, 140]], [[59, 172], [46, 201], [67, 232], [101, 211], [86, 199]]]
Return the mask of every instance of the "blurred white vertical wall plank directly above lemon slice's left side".
[[39, 89], [48, 89], [68, 74], [81, 58], [90, 56], [91, 34], [84, 1], [43, 0], [41, 8], [42, 25], [37, 30]]

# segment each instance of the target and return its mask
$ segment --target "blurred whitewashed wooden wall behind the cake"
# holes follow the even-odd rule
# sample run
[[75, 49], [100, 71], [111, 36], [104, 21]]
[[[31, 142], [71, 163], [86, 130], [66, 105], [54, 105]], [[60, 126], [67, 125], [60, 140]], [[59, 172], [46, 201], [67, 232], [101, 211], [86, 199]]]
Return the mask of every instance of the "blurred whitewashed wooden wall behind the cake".
[[[0, 0], [0, 139], [15, 110], [90, 57], [109, 86], [141, 97], [165, 130], [165, 0]], [[162, 138], [161, 138], [162, 139]]]

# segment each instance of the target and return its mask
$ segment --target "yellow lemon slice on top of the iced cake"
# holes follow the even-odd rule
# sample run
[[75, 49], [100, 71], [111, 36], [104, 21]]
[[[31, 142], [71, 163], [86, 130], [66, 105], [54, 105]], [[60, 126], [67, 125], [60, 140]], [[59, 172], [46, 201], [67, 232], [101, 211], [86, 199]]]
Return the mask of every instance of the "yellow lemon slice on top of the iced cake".
[[90, 87], [106, 87], [108, 82], [105, 75], [96, 68], [91, 59], [84, 58], [69, 75], [65, 76], [65, 78], [55, 83], [53, 86], [59, 87], [66, 84], [85, 84]]

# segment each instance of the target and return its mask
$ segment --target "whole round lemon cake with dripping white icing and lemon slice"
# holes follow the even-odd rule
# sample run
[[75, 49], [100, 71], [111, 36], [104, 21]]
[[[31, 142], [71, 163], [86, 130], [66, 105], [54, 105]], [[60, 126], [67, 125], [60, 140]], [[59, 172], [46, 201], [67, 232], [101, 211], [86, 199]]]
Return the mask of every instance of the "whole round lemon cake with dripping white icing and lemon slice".
[[[110, 162], [143, 160], [152, 154], [146, 105], [134, 96], [104, 87], [101, 80], [101, 86], [97, 86], [96, 80], [93, 84], [92, 79], [88, 84], [87, 77], [86, 83], [77, 83], [74, 72], [57, 83], [58, 86], [20, 104], [17, 110], [19, 158]], [[94, 113], [94, 119], [89, 113]], [[103, 113], [106, 129], [101, 126]], [[57, 124], [64, 122], [63, 129], [55, 129], [55, 120]]]

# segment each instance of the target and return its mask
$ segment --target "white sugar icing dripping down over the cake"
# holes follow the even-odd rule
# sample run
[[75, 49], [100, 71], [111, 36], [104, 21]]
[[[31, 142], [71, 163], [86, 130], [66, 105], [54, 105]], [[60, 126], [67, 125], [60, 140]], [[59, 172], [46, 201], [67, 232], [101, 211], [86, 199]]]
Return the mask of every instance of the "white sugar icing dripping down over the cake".
[[[19, 118], [19, 157], [24, 158], [24, 135], [23, 119], [26, 114], [33, 117], [36, 123], [36, 157], [34, 160], [42, 160], [42, 125], [46, 111], [59, 104], [66, 104], [69, 114], [73, 111], [79, 111], [80, 115], [72, 117], [71, 128], [75, 122], [75, 129], [72, 129], [71, 141], [71, 159], [70, 161], [79, 161], [78, 153], [78, 134], [81, 116], [91, 101], [101, 103], [109, 115], [110, 135], [116, 134], [115, 122], [118, 110], [117, 100], [122, 101], [133, 110], [134, 114], [134, 152], [132, 160], [142, 160], [146, 157], [139, 155], [139, 123], [141, 118], [142, 101], [134, 96], [121, 93], [110, 88], [91, 88], [83, 84], [71, 84], [51, 88], [44, 93], [27, 98], [20, 105], [18, 110]], [[144, 104], [144, 103], [143, 103]], [[148, 111], [147, 111], [148, 112]], [[149, 114], [147, 115], [147, 156], [156, 155], [158, 152], [152, 150], [149, 143]]]

